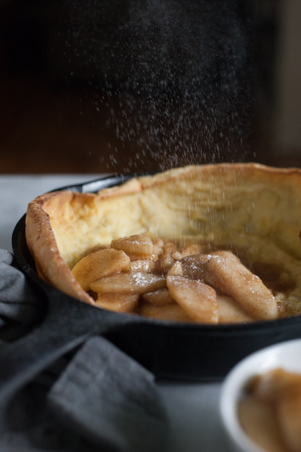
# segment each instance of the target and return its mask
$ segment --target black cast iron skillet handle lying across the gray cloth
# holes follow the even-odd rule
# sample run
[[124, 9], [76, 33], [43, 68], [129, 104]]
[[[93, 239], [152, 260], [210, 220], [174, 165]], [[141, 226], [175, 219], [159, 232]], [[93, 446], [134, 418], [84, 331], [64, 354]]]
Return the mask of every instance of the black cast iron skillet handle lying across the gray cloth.
[[98, 309], [56, 292], [42, 323], [0, 348], [0, 429], [5, 428], [10, 399], [26, 383], [88, 336], [105, 333], [131, 320], [131, 316]]

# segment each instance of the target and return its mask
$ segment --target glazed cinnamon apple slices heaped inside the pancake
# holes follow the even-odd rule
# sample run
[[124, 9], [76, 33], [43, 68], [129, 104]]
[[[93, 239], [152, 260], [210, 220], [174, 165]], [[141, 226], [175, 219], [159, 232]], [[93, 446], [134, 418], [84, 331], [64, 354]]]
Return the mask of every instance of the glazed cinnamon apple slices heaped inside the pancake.
[[231, 251], [177, 249], [140, 234], [89, 253], [72, 273], [98, 306], [115, 311], [201, 323], [282, 315], [272, 290]]

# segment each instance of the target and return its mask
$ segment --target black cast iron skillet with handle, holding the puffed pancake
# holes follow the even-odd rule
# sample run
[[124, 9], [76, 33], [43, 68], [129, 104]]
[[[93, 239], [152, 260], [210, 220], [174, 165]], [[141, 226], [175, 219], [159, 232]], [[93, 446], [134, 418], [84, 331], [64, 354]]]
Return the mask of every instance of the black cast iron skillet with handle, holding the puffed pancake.
[[[107, 177], [64, 188], [96, 192], [131, 177]], [[45, 318], [36, 328], [0, 350], [0, 403], [1, 394], [8, 397], [93, 334], [105, 335], [159, 378], [198, 381], [222, 379], [249, 353], [301, 336], [301, 316], [213, 326], [160, 321], [95, 308], [38, 277], [25, 241], [25, 215], [15, 227], [12, 243], [20, 268], [42, 288], [48, 303]]]

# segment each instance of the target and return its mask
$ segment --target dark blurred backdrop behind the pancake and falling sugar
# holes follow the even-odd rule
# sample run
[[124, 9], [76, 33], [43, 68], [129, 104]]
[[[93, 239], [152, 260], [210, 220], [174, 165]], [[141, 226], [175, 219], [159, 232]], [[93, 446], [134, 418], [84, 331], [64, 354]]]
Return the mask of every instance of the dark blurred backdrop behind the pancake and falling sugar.
[[297, 4], [0, 0], [0, 172], [301, 166]]

